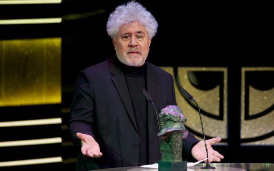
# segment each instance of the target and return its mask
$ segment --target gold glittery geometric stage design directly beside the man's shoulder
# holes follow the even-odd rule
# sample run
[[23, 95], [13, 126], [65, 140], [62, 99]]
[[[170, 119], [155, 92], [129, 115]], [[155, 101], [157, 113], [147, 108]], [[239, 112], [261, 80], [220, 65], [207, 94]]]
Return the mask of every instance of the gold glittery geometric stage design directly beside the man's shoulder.
[[[201, 122], [198, 111], [191, 106], [188, 101], [180, 93], [176, 81], [173, 67], [161, 67], [169, 72], [174, 78], [174, 87], [177, 105], [182, 109], [188, 121], [186, 125], [202, 134]], [[220, 85], [215, 88], [204, 91], [195, 88], [188, 77], [188, 72], [222, 72], [223, 73], [223, 92], [220, 92]], [[200, 108], [214, 116], [220, 115], [220, 105], [223, 105], [223, 119], [214, 119], [202, 115], [203, 125], [206, 136], [227, 138], [227, 68], [225, 67], [177, 67], [177, 76], [182, 87], [184, 87], [197, 101]], [[220, 104], [220, 93], [223, 94], [223, 104]], [[203, 114], [203, 113], [202, 113]], [[196, 136], [197, 137], [197, 136]], [[199, 139], [199, 137], [197, 137]], [[201, 138], [200, 138], [201, 139]]]

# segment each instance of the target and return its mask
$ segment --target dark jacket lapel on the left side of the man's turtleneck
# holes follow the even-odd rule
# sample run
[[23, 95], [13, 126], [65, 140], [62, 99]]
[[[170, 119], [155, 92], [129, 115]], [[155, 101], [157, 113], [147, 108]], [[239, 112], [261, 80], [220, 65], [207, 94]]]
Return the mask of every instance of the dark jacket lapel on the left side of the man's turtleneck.
[[135, 130], [139, 134], [124, 73], [115, 64], [113, 64], [112, 61], [110, 62], [110, 72], [111, 72], [111, 79], [118, 91], [118, 94], [120, 95], [120, 97], [122, 99], [122, 102], [128, 112], [128, 115], [129, 115], [134, 127], [135, 127]]

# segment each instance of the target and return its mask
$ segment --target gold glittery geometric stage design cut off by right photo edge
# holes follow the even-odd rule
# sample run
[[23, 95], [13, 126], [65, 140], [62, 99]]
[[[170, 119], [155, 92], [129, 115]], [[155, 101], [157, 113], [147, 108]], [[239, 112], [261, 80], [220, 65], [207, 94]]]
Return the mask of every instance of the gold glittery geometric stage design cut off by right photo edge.
[[[273, 72], [272, 77], [265, 77], [263, 74], [261, 75], [263, 78], [265, 77], [266, 83], [267, 80], [272, 80], [274, 78], [274, 67], [242, 67], [241, 69], [241, 139], [256, 138], [274, 131], [274, 110], [267, 111], [268, 108], [274, 105], [274, 87], [268, 90], [257, 90], [250, 84], [246, 85], [247, 72], [252, 74], [252, 72], [258, 73], [263, 71]], [[249, 93], [247, 114], [245, 113], [246, 88]], [[245, 118], [245, 115], [252, 117], [263, 111], [267, 111], [268, 113], [251, 119]], [[241, 145], [274, 145], [274, 136], [258, 141], [245, 142]]]

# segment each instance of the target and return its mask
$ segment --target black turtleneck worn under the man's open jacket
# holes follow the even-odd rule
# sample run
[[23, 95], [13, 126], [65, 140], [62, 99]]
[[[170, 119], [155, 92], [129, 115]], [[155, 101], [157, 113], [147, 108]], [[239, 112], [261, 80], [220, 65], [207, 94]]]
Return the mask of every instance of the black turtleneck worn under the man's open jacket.
[[139, 67], [128, 66], [115, 58], [115, 64], [125, 75], [131, 104], [140, 133], [138, 165], [145, 165], [149, 162], [147, 100], [142, 92], [142, 89], [146, 89], [146, 63]]

